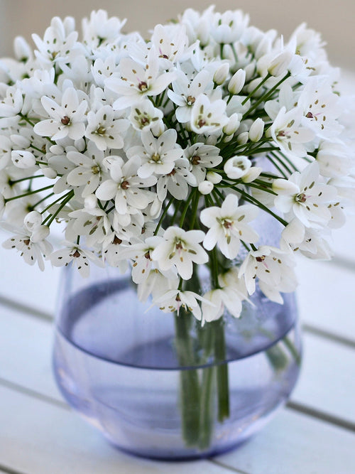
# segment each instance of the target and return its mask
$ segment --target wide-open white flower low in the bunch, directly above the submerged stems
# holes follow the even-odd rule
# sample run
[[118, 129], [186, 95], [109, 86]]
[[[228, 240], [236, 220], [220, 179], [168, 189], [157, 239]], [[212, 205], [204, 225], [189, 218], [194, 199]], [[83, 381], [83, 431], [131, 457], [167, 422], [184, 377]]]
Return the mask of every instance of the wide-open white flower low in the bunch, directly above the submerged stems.
[[200, 245], [203, 239], [202, 230], [185, 231], [180, 227], [168, 227], [162, 242], [153, 250], [152, 258], [158, 262], [161, 271], [175, 265], [181, 278], [189, 280], [192, 276], [192, 263], [208, 262], [208, 255]]

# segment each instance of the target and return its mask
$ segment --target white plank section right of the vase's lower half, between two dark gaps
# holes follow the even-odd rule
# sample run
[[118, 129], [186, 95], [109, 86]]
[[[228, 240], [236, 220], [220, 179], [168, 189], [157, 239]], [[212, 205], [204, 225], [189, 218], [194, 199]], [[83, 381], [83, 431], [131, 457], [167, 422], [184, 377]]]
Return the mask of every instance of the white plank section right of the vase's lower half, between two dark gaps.
[[304, 334], [304, 363], [291, 400], [355, 424], [355, 350]]

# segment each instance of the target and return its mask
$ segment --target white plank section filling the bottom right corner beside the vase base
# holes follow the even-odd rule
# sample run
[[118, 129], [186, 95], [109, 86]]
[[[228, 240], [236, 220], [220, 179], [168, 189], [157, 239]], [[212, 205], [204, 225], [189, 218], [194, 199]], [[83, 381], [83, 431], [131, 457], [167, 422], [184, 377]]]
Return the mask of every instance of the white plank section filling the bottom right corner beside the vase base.
[[280, 411], [251, 441], [217, 461], [253, 474], [353, 474], [355, 435]]

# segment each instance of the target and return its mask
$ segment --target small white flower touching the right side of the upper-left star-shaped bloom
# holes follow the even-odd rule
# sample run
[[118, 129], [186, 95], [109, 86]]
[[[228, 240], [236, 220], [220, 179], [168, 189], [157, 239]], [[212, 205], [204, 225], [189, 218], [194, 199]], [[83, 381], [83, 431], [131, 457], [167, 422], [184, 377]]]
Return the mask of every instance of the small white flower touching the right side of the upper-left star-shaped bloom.
[[96, 113], [90, 111], [87, 114], [85, 136], [94, 141], [99, 150], [120, 149], [124, 146], [122, 135], [128, 128], [128, 120], [115, 119], [114, 109], [110, 105], [105, 105]]

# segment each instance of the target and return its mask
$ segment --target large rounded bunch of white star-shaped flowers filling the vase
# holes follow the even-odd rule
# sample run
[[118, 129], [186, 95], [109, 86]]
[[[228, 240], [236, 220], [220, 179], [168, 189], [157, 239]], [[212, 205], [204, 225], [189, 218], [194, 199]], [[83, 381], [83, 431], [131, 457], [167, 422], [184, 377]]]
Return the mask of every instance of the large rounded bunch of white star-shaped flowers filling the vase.
[[[16, 60], [0, 60], [4, 247], [83, 276], [129, 262], [143, 301], [202, 323], [238, 317], [256, 283], [282, 303], [295, 253], [329, 258], [354, 200], [349, 99], [320, 36], [303, 24], [284, 43], [213, 7], [148, 41], [124, 23], [94, 11], [79, 41], [73, 18], [55, 17], [35, 50], [16, 38]], [[260, 215], [280, 225], [278, 244]]]

